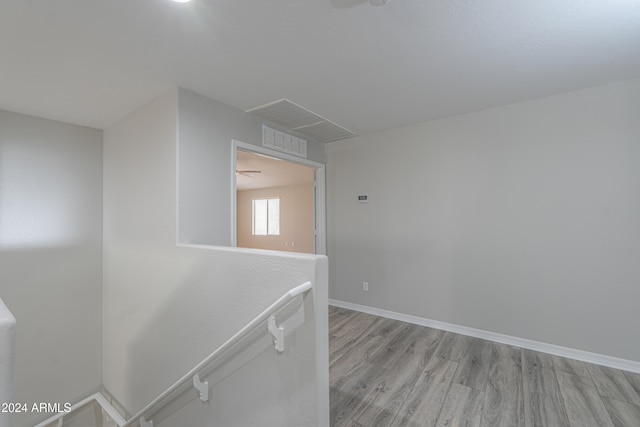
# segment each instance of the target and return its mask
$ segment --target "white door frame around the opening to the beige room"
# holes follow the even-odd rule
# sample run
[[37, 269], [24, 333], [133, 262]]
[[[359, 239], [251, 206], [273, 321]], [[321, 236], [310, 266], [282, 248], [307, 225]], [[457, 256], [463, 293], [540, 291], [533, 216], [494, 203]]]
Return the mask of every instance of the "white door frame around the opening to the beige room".
[[314, 173], [314, 249], [318, 255], [327, 254], [327, 217], [326, 217], [326, 189], [325, 189], [325, 165], [313, 160], [271, 150], [259, 145], [231, 140], [231, 246], [238, 246], [237, 240], [237, 198], [236, 198], [236, 152], [238, 150], [262, 154], [276, 159], [309, 166], [315, 169]]

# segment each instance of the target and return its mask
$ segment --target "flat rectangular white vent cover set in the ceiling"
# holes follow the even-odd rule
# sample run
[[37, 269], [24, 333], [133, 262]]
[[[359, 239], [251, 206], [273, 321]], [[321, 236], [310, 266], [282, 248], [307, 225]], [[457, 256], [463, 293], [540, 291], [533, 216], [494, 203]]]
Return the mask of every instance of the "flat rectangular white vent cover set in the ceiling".
[[247, 110], [247, 113], [268, 120], [271, 123], [296, 131], [320, 142], [338, 141], [356, 136], [340, 125], [307, 110], [300, 105], [280, 99]]

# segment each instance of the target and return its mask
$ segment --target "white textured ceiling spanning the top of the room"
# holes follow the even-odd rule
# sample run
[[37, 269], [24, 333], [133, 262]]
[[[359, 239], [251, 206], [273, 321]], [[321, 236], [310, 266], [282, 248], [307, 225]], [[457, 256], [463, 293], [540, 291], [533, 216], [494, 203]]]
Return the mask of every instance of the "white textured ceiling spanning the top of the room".
[[640, 75], [640, 0], [2, 0], [0, 108], [103, 128], [181, 86], [356, 133]]

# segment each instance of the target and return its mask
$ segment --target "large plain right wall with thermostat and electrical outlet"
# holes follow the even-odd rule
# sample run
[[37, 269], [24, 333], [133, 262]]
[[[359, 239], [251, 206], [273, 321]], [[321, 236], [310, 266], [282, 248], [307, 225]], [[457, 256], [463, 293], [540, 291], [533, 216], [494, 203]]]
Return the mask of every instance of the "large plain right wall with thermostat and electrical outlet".
[[328, 144], [330, 297], [640, 361], [639, 117], [635, 80]]

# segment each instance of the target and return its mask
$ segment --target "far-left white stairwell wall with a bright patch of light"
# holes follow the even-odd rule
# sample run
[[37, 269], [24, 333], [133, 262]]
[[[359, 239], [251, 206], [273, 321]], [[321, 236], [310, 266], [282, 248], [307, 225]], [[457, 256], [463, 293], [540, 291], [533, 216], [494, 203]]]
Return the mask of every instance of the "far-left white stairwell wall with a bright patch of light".
[[0, 296], [19, 319], [16, 401], [100, 389], [101, 131], [0, 111]]

